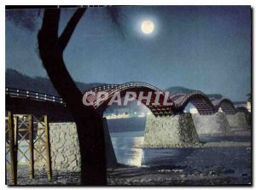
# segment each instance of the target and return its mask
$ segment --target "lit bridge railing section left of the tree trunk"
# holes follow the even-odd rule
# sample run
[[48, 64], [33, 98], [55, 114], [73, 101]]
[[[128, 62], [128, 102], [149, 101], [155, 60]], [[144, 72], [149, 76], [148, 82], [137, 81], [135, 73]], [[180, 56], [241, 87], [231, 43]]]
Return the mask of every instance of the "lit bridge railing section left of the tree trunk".
[[5, 88], [5, 94], [13, 97], [27, 98], [36, 101], [50, 101], [66, 106], [66, 103], [62, 100], [61, 97], [55, 95], [47, 95], [26, 89]]

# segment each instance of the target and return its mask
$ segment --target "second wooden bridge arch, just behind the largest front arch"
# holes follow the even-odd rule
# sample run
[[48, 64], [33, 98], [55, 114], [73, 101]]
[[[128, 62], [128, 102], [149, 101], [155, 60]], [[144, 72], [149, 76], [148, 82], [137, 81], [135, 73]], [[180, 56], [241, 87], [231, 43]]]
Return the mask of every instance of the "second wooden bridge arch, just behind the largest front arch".
[[176, 113], [183, 112], [189, 103], [192, 103], [201, 115], [209, 115], [215, 112], [212, 102], [201, 91], [193, 91], [188, 94], [174, 94], [171, 95], [171, 99], [175, 103]]

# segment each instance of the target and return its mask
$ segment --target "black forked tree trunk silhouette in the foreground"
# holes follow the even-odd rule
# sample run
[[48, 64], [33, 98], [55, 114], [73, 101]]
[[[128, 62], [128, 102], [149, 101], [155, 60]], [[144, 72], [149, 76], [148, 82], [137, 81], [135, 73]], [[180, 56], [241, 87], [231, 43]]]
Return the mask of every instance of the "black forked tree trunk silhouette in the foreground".
[[63, 60], [63, 51], [85, 10], [77, 9], [58, 37], [61, 10], [45, 9], [43, 24], [38, 32], [38, 49], [51, 82], [67, 102], [77, 124], [82, 185], [105, 185], [107, 175], [102, 117], [93, 107], [84, 106], [83, 94], [73, 82]]

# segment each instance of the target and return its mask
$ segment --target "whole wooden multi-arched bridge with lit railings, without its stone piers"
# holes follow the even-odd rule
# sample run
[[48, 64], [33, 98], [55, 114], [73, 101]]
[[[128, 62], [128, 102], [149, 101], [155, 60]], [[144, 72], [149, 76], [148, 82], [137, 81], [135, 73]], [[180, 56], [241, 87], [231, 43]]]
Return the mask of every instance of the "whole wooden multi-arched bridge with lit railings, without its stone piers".
[[[168, 106], [163, 104], [165, 99], [165, 92], [156, 88], [155, 86], [148, 83], [139, 83], [139, 82], [131, 82], [124, 84], [104, 84], [102, 86], [98, 86], [92, 88], [90, 90], [85, 91], [88, 92], [108, 92], [108, 98], [104, 101], [99, 101], [97, 99], [92, 100], [92, 106], [98, 112], [104, 112], [108, 107], [108, 102], [111, 100], [113, 95], [116, 92], [119, 92], [121, 97], [125, 96], [127, 91], [134, 92], [138, 94], [143, 91], [143, 96], [147, 96], [148, 93], [151, 94], [151, 99], [149, 104], [146, 105], [146, 100], [143, 100], [142, 103], [145, 104], [146, 107], [150, 109], [150, 111], [155, 116], [167, 116], [174, 115], [183, 112], [184, 108], [190, 103], [192, 103], [198, 112], [201, 115], [211, 115], [214, 112], [218, 112], [219, 107], [221, 107], [222, 111], [226, 114], [235, 114], [236, 109], [232, 103], [232, 101], [228, 99], [221, 99], [218, 101], [210, 101], [204, 93], [201, 91], [192, 91], [189, 93], [174, 93], [167, 97]], [[43, 93], [34, 92], [26, 89], [12, 89], [6, 88], [6, 97], [12, 99], [19, 100], [30, 100], [30, 101], [45, 101], [50, 102], [58, 107], [66, 107], [65, 102], [57, 96], [54, 95], [45, 95]], [[159, 97], [156, 96], [157, 92]], [[159, 98], [159, 105], [154, 105], [156, 99]]]

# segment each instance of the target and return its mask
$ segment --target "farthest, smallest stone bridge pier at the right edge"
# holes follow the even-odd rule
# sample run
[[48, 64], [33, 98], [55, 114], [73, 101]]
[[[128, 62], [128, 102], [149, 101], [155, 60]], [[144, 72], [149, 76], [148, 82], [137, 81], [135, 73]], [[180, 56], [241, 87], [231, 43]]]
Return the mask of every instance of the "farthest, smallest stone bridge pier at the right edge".
[[236, 112], [234, 115], [227, 115], [228, 122], [231, 128], [247, 128], [247, 119], [244, 112]]

